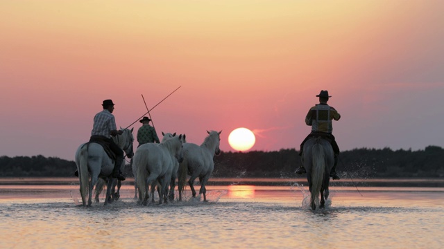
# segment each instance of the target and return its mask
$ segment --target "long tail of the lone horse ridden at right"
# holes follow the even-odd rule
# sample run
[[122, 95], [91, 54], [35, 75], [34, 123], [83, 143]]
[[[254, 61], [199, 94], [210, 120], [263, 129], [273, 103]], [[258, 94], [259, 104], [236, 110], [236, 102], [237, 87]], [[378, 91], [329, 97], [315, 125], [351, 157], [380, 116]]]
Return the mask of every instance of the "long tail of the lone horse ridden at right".
[[319, 195], [325, 175], [325, 154], [321, 143], [316, 141], [311, 149], [311, 203], [319, 203]]

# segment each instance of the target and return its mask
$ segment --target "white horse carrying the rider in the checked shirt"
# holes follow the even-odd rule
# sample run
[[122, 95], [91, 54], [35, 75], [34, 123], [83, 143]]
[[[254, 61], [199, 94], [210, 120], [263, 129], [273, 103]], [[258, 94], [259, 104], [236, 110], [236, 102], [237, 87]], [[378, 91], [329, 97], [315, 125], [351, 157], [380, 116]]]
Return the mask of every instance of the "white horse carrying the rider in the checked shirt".
[[[128, 158], [133, 156], [133, 129], [121, 129], [121, 135], [114, 136], [114, 142], [125, 151]], [[123, 161], [124, 162], [124, 161]], [[80, 196], [82, 196], [83, 205], [91, 206], [92, 189], [96, 185], [98, 178], [105, 178], [108, 182], [105, 205], [110, 201], [113, 179], [112, 169], [114, 169], [114, 160], [108, 156], [102, 145], [96, 142], [86, 142], [80, 145], [76, 151], [76, 165], [78, 178], [80, 181]], [[89, 181], [89, 176], [90, 181]], [[88, 202], [86, 203], [86, 195]]]

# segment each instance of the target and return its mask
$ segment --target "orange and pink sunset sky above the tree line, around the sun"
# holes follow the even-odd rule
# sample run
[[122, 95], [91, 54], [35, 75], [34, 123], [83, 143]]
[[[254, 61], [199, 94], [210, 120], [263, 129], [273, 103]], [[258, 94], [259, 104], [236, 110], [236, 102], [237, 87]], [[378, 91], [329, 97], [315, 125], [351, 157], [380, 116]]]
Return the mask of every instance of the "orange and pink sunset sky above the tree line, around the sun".
[[[342, 150], [444, 147], [444, 1], [0, 3], [0, 156], [74, 160], [94, 115], [118, 127], [251, 129], [251, 150], [299, 149], [328, 90]], [[133, 126], [135, 131], [139, 122]], [[135, 134], [136, 132], [134, 132]], [[137, 142], [135, 143], [137, 146]]]

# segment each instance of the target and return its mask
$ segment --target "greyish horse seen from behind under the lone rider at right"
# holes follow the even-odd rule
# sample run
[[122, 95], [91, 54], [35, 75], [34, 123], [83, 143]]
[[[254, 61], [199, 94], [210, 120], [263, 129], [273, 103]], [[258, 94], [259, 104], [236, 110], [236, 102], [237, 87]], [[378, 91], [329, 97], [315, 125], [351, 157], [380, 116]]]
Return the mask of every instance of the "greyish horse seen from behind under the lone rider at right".
[[310, 138], [304, 144], [302, 160], [307, 170], [311, 209], [316, 210], [320, 195], [319, 208], [324, 208], [329, 195], [330, 171], [334, 164], [332, 145], [321, 137]]

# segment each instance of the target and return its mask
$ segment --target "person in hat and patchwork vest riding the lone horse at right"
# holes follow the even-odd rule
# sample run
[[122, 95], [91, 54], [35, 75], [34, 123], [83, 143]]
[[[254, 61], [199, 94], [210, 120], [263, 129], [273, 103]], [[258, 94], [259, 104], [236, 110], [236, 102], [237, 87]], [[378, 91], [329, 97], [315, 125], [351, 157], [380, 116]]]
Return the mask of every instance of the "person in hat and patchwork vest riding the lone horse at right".
[[[339, 120], [341, 118], [341, 114], [339, 114], [336, 109], [330, 107], [327, 104], [329, 98], [332, 97], [328, 95], [327, 90], [321, 90], [321, 93], [316, 95], [316, 97], [319, 97], [319, 104], [311, 107], [307, 113], [307, 116], [305, 117], [305, 124], [311, 126], [311, 133], [309, 133], [307, 138], [305, 138], [300, 144], [299, 155], [302, 156], [304, 144], [305, 142], [307, 142], [307, 140], [309, 140], [309, 138], [312, 138], [314, 136], [321, 136], [322, 138], [325, 138], [332, 145], [334, 152], [334, 165], [332, 171], [330, 172], [330, 177], [332, 177], [333, 180], [338, 180], [339, 176], [338, 174], [336, 174], [336, 165], [338, 163], [339, 147], [332, 134], [332, 120]], [[304, 165], [302, 163], [302, 165], [300, 165], [300, 167], [296, 170], [296, 174], [304, 173], [307, 172], [305, 171]]]

